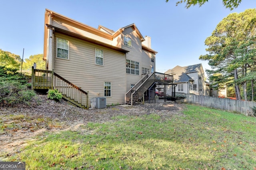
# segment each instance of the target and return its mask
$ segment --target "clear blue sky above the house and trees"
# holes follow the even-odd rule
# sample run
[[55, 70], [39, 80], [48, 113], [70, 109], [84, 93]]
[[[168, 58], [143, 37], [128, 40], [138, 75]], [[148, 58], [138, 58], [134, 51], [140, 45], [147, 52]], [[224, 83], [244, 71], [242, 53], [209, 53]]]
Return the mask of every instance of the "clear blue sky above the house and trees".
[[111, 30], [135, 24], [142, 36], [151, 37], [156, 54], [156, 71], [176, 65], [187, 66], [207, 61], [204, 41], [228, 14], [256, 8], [256, 0], [242, 0], [238, 8], [226, 9], [222, 0], [209, 0], [203, 6], [176, 6], [178, 0], [0, 0], [0, 49], [20, 55], [43, 53], [44, 12], [52, 10], [86, 25]]

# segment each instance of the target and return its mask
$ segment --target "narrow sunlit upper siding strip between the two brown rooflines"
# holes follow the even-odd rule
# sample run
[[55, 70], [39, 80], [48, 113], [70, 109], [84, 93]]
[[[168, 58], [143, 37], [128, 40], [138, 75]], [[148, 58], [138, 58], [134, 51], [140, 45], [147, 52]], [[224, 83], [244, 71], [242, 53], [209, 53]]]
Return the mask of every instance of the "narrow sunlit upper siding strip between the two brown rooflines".
[[107, 40], [106, 38], [102, 38], [100, 36], [97, 36], [95, 34], [92, 34], [90, 32], [86, 32], [84, 30], [80, 30], [78, 28], [75, 28], [73, 26], [70, 26], [68, 24], [66, 24], [64, 21], [60, 20], [60, 21], [56, 21], [56, 20], [53, 20], [52, 21], [52, 25], [53, 26], [56, 26], [58, 28], [61, 28], [63, 30], [67, 30], [67, 31], [70, 31], [70, 32], [74, 32], [76, 34], [79, 34], [79, 35], [82, 35], [82, 36], [86, 36], [88, 38], [92, 38], [94, 40], [97, 40], [97, 41], [100, 41], [100, 42], [103, 42], [103, 43], [107, 43], [107, 44], [110, 44], [112, 45], [112, 41], [111, 40]]

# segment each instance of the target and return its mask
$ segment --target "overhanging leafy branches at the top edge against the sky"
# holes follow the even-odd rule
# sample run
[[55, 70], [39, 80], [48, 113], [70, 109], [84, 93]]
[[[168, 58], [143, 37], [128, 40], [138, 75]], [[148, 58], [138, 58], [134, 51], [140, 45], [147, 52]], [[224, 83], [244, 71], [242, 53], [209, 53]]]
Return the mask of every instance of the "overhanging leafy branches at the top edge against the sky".
[[[168, 1], [169, 0], [166, 0], [166, 2]], [[234, 8], [238, 7], [241, 1], [242, 0], [222, 0], [222, 3], [226, 8], [233, 10]], [[195, 6], [195, 5], [202, 6], [205, 2], [208, 2], [208, 0], [180, 0], [176, 2], [176, 6], [178, 6], [178, 4], [185, 3], [186, 8], [190, 8], [190, 6]]]

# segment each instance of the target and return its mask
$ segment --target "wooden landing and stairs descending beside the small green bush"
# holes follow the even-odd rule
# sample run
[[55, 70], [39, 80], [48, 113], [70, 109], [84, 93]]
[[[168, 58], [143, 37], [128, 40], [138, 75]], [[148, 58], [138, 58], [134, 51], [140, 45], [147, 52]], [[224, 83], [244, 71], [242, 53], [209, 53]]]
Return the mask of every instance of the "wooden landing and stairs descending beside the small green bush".
[[57, 89], [62, 93], [62, 98], [77, 107], [88, 109], [88, 91], [84, 91], [73, 83], [64, 79], [54, 71], [39, 70], [32, 67], [32, 90], [36, 89]]

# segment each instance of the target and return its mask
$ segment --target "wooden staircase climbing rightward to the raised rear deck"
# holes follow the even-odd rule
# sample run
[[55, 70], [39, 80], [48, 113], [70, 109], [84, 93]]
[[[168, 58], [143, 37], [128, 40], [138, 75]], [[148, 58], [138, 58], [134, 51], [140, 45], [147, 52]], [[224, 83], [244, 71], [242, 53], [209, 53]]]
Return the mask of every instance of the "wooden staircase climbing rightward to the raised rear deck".
[[140, 81], [125, 93], [125, 104], [133, 105], [142, 100], [144, 93], [155, 82], [155, 72], [151, 75], [146, 74]]

